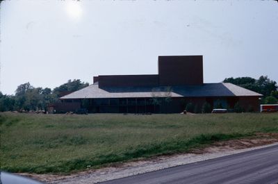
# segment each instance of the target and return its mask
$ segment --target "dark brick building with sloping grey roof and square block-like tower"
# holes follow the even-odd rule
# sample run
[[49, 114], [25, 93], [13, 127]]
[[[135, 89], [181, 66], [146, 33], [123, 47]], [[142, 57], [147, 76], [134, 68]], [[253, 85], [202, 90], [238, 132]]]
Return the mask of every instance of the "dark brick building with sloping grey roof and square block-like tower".
[[93, 84], [60, 97], [56, 111], [177, 113], [188, 103], [259, 111], [259, 93], [231, 83], [204, 83], [202, 56], [158, 56], [158, 74], [94, 76]]

